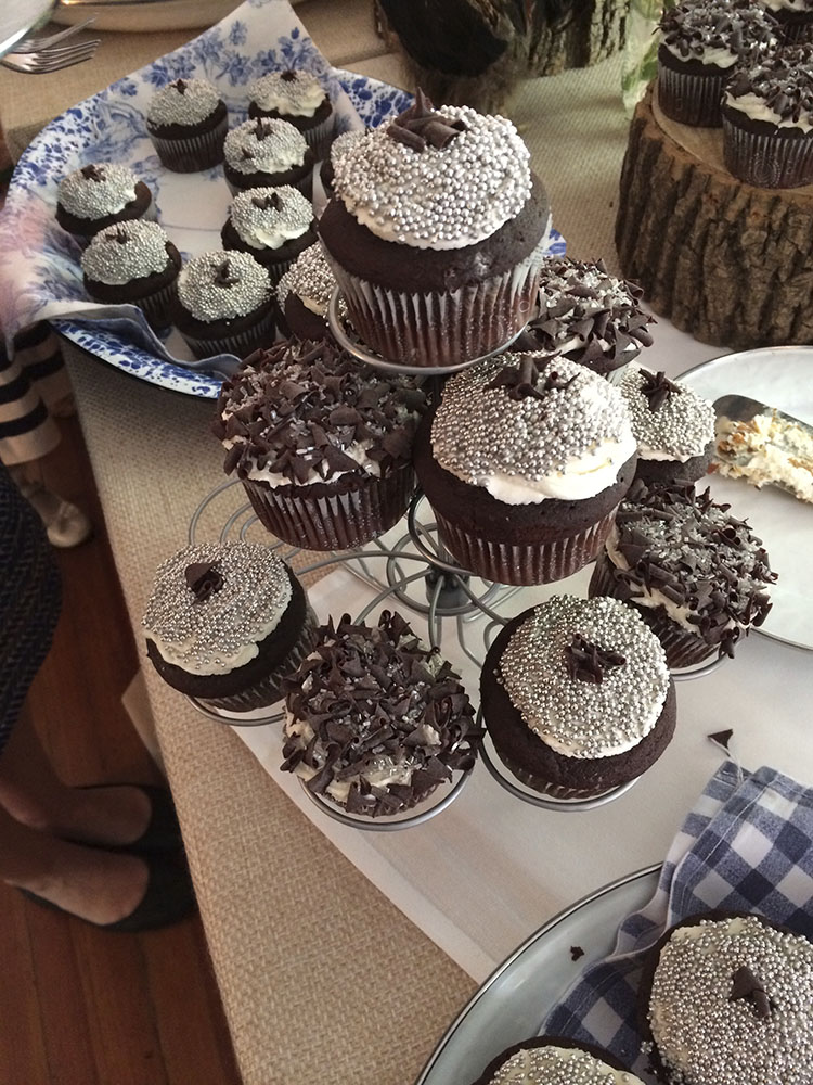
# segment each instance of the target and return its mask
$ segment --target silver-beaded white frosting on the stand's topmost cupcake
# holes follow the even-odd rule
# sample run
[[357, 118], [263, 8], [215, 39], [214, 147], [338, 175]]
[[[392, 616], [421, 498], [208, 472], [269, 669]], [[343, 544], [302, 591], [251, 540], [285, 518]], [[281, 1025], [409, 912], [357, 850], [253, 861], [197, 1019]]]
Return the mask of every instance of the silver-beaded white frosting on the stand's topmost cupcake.
[[467, 106], [437, 112], [465, 125], [444, 148], [415, 151], [382, 125], [333, 158], [336, 195], [385, 241], [463, 248], [491, 237], [528, 201], [530, 154], [509, 120]]

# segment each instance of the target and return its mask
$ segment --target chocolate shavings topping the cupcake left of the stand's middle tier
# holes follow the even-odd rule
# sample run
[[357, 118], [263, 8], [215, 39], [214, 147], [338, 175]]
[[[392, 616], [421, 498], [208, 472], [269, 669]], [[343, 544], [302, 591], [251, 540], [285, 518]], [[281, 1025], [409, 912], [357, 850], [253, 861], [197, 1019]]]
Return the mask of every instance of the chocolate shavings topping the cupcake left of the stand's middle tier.
[[410, 378], [360, 366], [327, 342], [292, 341], [249, 355], [223, 383], [212, 431], [233, 442], [227, 474], [245, 478], [257, 468], [302, 485], [363, 471], [346, 451], [361, 442], [382, 469], [409, 460], [425, 409]]

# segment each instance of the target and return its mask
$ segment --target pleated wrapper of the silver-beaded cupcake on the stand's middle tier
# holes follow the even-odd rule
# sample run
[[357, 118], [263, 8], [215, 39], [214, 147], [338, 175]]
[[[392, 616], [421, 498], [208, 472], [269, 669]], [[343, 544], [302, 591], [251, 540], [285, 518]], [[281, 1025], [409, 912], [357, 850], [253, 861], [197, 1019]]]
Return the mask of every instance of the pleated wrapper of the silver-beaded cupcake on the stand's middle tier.
[[599, 552], [616, 519], [612, 509], [577, 535], [526, 546], [477, 538], [434, 511], [440, 538], [463, 569], [485, 580], [515, 585], [551, 584], [578, 573]]

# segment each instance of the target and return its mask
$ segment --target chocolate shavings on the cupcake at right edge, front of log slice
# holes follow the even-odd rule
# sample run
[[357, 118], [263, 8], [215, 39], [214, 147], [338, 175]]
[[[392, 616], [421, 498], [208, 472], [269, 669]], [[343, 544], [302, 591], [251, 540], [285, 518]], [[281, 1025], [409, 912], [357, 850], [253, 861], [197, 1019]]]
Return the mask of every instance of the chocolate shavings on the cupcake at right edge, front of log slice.
[[741, 68], [728, 85], [732, 98], [756, 94], [785, 122], [798, 125], [813, 119], [813, 46], [783, 47], [760, 60], [756, 67]]

